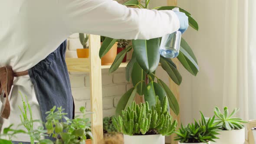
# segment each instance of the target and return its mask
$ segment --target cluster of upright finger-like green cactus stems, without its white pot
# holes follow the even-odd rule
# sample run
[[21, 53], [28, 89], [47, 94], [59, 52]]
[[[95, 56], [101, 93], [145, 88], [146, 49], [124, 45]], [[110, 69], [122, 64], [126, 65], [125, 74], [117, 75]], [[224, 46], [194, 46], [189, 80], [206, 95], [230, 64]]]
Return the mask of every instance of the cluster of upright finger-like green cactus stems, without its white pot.
[[177, 121], [172, 121], [167, 108], [167, 97], [164, 98], [163, 104], [157, 97], [156, 105], [151, 109], [148, 102], [136, 105], [133, 101], [132, 105], [122, 111], [121, 115], [112, 118], [112, 123], [118, 132], [127, 135], [146, 134], [154, 130], [158, 134], [168, 136], [174, 132]]

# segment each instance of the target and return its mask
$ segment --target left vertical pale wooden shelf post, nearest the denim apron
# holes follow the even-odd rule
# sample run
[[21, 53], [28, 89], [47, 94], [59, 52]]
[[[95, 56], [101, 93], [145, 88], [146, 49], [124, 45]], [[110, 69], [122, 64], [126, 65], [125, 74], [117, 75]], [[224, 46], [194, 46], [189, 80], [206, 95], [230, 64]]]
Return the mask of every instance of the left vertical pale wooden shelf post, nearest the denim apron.
[[102, 69], [98, 56], [100, 46], [100, 36], [89, 35], [93, 144], [99, 144], [103, 140]]

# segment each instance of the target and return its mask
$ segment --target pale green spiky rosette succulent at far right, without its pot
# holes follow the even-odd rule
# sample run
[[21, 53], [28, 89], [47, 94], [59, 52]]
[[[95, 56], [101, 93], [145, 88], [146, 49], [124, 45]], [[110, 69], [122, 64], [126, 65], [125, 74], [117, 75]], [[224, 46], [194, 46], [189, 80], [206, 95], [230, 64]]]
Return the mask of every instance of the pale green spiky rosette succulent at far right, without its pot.
[[221, 126], [221, 130], [230, 131], [244, 128], [243, 123], [247, 123], [247, 121], [243, 121], [241, 118], [233, 118], [233, 115], [235, 115], [237, 111], [239, 111], [239, 108], [235, 108], [229, 115], [227, 107], [224, 108], [223, 113], [220, 112], [218, 107], [215, 107], [214, 115], [217, 117], [215, 122]]

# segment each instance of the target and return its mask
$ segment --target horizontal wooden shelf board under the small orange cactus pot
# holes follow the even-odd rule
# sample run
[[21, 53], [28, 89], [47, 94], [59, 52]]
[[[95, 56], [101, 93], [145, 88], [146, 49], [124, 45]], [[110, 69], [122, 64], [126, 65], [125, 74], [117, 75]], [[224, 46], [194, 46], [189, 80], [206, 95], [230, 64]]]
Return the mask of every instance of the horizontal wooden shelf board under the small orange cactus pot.
[[90, 72], [90, 59], [66, 58], [69, 72]]

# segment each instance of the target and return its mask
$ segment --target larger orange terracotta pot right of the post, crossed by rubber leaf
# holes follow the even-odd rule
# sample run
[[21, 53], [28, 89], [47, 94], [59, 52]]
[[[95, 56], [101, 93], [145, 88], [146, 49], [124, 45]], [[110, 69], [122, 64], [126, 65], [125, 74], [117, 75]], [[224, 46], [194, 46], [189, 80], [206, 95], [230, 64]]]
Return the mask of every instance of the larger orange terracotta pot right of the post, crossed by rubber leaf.
[[102, 65], [112, 65], [117, 55], [117, 43], [102, 57]]

